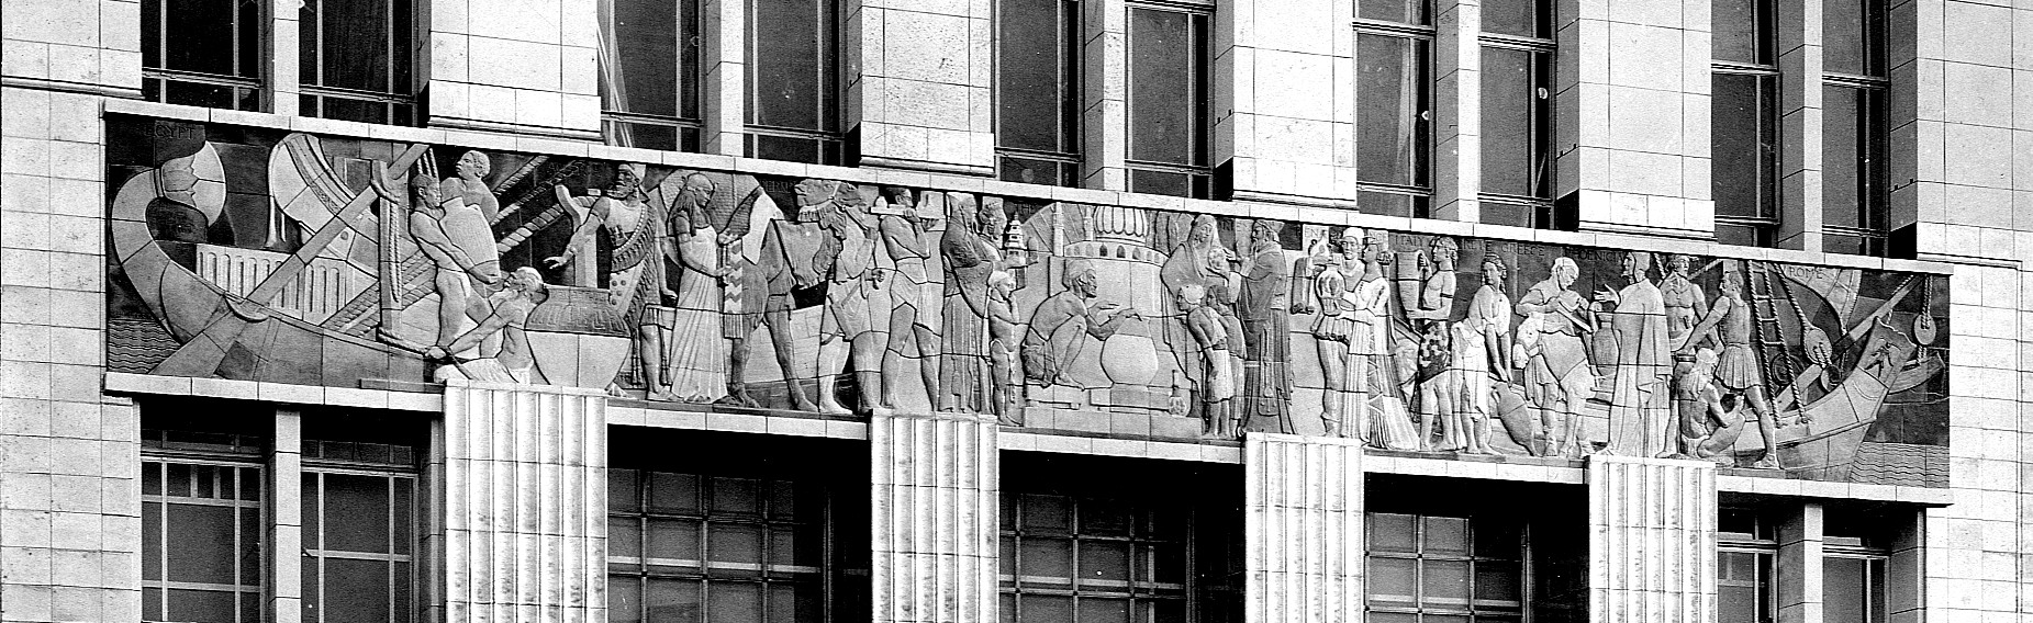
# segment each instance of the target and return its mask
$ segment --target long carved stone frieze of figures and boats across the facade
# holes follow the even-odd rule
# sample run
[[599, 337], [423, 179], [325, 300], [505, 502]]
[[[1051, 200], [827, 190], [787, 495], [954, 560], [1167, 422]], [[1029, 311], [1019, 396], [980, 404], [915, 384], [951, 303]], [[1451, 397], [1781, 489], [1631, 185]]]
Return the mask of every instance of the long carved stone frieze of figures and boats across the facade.
[[1942, 276], [108, 128], [118, 371], [1946, 485]]

